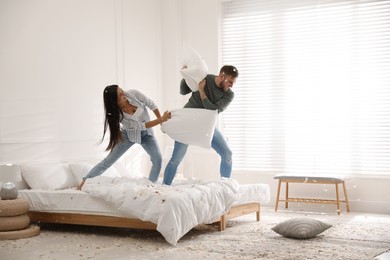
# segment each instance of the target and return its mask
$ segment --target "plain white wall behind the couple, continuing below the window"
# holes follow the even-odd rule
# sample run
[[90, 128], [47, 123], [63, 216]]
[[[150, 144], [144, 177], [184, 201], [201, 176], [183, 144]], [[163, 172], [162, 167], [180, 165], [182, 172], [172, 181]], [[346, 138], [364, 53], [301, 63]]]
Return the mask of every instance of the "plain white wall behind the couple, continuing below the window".
[[[182, 107], [183, 42], [219, 64], [220, 0], [0, 0], [0, 164], [96, 160], [103, 131], [102, 90], [108, 84], [139, 89], [161, 110]], [[162, 152], [173, 141], [155, 129]], [[166, 148], [167, 147], [167, 148]], [[134, 171], [142, 149], [121, 161]], [[167, 160], [168, 154], [164, 155]], [[142, 156], [141, 156], [142, 157]], [[145, 174], [148, 160], [143, 156]], [[213, 151], [191, 147], [181, 171], [218, 178]], [[273, 173], [234, 171], [240, 183], [270, 184]], [[353, 176], [351, 209], [390, 213], [389, 178]], [[327, 187], [297, 187], [303, 195]]]

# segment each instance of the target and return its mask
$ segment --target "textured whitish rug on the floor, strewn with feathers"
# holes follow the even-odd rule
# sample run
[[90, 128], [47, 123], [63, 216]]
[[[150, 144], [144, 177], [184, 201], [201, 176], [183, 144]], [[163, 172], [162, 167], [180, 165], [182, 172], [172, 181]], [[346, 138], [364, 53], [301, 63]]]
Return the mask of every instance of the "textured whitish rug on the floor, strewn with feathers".
[[[333, 226], [309, 240], [284, 238], [271, 230], [293, 217]], [[41, 225], [36, 237], [0, 241], [1, 259], [378, 259], [390, 250], [390, 216], [365, 213], [275, 213], [262, 210], [236, 218], [219, 232], [202, 225], [177, 246], [157, 231], [73, 225]], [[380, 258], [385, 259], [385, 258]]]

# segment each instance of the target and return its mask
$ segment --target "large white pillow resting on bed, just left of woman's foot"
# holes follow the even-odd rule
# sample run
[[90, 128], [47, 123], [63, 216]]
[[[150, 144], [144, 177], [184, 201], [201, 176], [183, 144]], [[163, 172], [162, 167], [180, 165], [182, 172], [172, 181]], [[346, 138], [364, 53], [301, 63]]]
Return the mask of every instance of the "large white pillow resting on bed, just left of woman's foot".
[[59, 190], [77, 185], [65, 163], [21, 165], [20, 170], [23, 179], [34, 190]]

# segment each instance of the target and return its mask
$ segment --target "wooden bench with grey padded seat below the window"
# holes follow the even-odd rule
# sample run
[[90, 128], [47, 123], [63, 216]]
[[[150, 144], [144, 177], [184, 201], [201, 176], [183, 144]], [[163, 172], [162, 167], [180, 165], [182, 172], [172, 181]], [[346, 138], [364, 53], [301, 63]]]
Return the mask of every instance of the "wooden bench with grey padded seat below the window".
[[[278, 193], [276, 196], [275, 211], [278, 210], [279, 201], [285, 203], [285, 208], [288, 208], [289, 202], [303, 202], [303, 203], [322, 203], [322, 204], [336, 204], [337, 213], [340, 215], [340, 202], [344, 202], [347, 212], [349, 212], [349, 203], [347, 190], [345, 188], [345, 181], [349, 179], [344, 175], [289, 175], [279, 174], [274, 176], [274, 179], [279, 180]], [[282, 182], [286, 183], [286, 197], [280, 199], [280, 188]], [[289, 183], [311, 183], [311, 184], [333, 184], [336, 188], [336, 199], [318, 199], [318, 198], [291, 198], [289, 197]], [[342, 184], [344, 191], [344, 200], [339, 198], [339, 184]]]

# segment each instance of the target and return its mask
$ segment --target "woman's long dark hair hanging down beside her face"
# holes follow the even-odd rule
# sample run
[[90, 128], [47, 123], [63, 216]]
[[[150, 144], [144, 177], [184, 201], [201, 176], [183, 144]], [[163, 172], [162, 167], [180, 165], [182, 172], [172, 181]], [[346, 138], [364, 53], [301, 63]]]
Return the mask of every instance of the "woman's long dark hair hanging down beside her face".
[[103, 137], [100, 142], [103, 142], [108, 126], [110, 128], [110, 142], [108, 143], [106, 151], [111, 151], [122, 139], [119, 123], [123, 118], [123, 112], [118, 106], [117, 89], [118, 85], [110, 85], [103, 91], [104, 110], [106, 114]]

